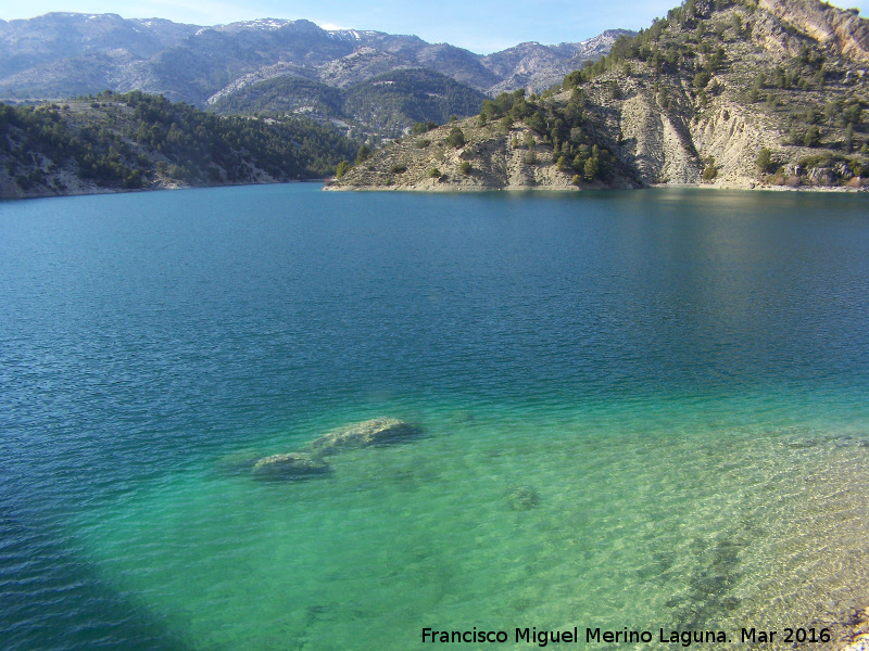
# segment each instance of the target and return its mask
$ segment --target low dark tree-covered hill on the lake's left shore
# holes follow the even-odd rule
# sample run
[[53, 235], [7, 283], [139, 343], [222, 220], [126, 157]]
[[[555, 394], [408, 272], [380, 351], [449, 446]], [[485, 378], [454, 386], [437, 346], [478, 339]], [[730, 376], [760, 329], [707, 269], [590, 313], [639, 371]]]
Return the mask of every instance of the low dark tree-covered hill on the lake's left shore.
[[322, 178], [357, 148], [306, 118], [219, 117], [139, 91], [0, 103], [0, 199]]

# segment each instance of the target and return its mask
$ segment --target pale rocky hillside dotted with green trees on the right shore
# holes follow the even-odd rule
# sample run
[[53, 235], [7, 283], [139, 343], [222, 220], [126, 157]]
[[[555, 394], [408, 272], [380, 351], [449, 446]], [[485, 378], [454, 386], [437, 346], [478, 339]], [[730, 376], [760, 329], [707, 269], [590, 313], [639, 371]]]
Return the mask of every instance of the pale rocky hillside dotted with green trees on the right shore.
[[688, 0], [541, 95], [486, 102], [331, 188], [859, 188], [868, 23], [817, 0]]

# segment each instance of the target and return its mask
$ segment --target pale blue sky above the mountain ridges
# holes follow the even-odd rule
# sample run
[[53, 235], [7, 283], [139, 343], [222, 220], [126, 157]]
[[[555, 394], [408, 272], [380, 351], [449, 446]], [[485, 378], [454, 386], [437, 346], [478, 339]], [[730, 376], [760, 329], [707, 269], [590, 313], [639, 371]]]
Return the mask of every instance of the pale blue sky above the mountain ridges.
[[[0, 0], [0, 18], [30, 18], [52, 11], [116, 13], [125, 18], [168, 18], [217, 25], [254, 18], [306, 18], [326, 29], [415, 34], [479, 54], [524, 41], [575, 42], [605, 29], [641, 29], [680, 0]], [[835, 4], [839, 4], [834, 2]], [[869, 0], [855, 0], [861, 15]]]

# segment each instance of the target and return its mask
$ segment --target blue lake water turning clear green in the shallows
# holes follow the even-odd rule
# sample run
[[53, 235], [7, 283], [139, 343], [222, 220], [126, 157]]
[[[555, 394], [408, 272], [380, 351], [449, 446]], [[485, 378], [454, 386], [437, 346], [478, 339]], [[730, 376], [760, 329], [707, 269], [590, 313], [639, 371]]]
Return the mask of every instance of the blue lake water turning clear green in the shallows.
[[[0, 637], [399, 650], [840, 616], [869, 601], [866, 207], [0, 204]], [[427, 436], [311, 482], [223, 472], [377, 416]]]

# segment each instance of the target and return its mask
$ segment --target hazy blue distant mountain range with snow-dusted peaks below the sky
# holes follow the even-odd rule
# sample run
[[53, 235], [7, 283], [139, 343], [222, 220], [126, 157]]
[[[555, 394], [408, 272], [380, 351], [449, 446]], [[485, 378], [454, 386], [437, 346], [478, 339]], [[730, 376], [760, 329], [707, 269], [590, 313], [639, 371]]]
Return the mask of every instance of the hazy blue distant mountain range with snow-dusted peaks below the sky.
[[625, 34], [632, 33], [607, 30], [557, 46], [528, 42], [483, 56], [415, 36], [326, 30], [310, 21], [202, 27], [116, 14], [49, 13], [0, 21], [0, 100], [141, 90], [206, 107], [277, 77], [344, 89], [413, 68], [488, 95], [520, 87], [539, 91], [606, 54]]

